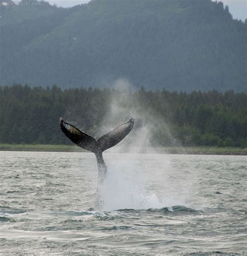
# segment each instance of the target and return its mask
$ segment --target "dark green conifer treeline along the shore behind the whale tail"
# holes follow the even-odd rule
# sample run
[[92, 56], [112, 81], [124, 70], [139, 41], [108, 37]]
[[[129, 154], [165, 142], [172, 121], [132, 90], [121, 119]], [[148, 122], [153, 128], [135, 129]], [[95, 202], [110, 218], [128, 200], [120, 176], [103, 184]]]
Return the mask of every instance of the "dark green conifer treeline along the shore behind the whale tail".
[[132, 115], [135, 129], [148, 125], [153, 145], [247, 146], [246, 93], [61, 90], [20, 84], [0, 87], [0, 143], [70, 143], [59, 130], [60, 116], [94, 134], [113, 112], [119, 120], [122, 112]]

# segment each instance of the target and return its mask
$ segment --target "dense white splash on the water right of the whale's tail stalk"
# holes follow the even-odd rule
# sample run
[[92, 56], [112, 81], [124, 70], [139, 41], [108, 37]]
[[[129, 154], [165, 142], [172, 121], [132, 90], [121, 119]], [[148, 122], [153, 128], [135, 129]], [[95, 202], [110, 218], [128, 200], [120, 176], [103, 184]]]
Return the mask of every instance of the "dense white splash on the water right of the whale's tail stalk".
[[103, 211], [119, 209], [161, 208], [162, 203], [154, 193], [148, 193], [137, 161], [130, 159], [112, 163], [101, 188]]

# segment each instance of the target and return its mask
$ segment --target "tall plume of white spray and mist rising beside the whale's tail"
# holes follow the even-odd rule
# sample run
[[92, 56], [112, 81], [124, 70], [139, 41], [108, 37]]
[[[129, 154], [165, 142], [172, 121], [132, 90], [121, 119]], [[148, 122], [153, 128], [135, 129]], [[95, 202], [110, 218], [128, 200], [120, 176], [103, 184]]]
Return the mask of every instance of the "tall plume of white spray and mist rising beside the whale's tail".
[[[107, 152], [128, 152], [124, 159], [116, 159], [108, 165], [106, 178], [101, 186], [100, 198], [103, 204], [96, 205], [96, 209], [112, 211], [118, 209], [149, 209], [162, 208], [164, 206], [172, 206], [176, 204], [185, 204], [189, 199], [189, 192], [193, 182], [196, 179], [195, 174], [184, 175], [180, 180], [180, 175], [172, 168], [169, 157], [164, 157], [163, 175], [159, 177], [163, 186], [160, 187], [160, 195], [155, 192], [147, 193], [145, 185], [148, 184], [152, 176], [157, 177], [155, 168], [150, 167], [148, 173], [143, 173], [145, 166], [139, 165], [139, 155], [141, 152], [149, 152], [152, 149], [152, 132], [155, 124], [163, 124], [166, 128], [166, 135], [170, 140], [174, 140], [169, 132], [169, 128], [164, 124], [164, 120], [157, 114], [152, 116], [149, 112], [144, 112], [133, 104], [130, 99], [130, 92], [135, 90], [128, 80], [119, 79], [114, 84], [116, 91], [112, 99], [109, 99], [109, 112], [103, 117], [100, 129], [96, 133], [96, 137], [102, 136], [104, 133], [114, 129], [117, 125], [127, 121], [130, 117], [134, 118], [134, 127], [130, 134]], [[140, 105], [140, 102], [134, 104]], [[155, 152], [155, 149], [152, 149]], [[172, 172], [176, 178], [176, 186], [174, 180], [169, 180], [165, 173]], [[193, 176], [193, 178], [192, 178]], [[179, 184], [180, 189], [175, 188]]]

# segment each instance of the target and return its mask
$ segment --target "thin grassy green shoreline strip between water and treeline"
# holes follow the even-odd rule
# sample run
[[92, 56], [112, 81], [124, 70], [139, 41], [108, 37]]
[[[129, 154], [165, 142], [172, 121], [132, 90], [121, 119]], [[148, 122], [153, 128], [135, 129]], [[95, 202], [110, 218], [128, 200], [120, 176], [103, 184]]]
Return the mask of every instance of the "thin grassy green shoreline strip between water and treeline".
[[[88, 152], [76, 145], [51, 144], [0, 144], [0, 151]], [[110, 151], [109, 152], [114, 152]], [[133, 152], [137, 152], [133, 150]], [[247, 155], [247, 148], [220, 147], [159, 147], [138, 153], [200, 154], [200, 155]]]

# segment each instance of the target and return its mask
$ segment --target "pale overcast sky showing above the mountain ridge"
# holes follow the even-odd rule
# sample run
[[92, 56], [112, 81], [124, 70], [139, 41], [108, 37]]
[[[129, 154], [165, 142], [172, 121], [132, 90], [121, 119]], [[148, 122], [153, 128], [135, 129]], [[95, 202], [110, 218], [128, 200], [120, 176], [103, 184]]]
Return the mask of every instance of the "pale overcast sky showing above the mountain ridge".
[[[56, 4], [57, 6], [71, 7], [79, 4], [88, 3], [90, 0], [45, 0], [45, 1], [49, 2], [50, 4]], [[244, 21], [247, 18], [247, 0], [221, 0], [221, 2], [223, 2], [224, 5], [228, 5], [229, 11], [232, 14], [234, 19], [238, 18]]]

